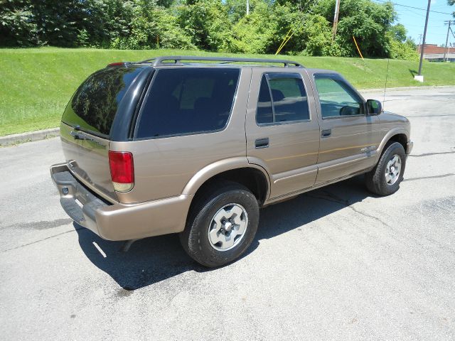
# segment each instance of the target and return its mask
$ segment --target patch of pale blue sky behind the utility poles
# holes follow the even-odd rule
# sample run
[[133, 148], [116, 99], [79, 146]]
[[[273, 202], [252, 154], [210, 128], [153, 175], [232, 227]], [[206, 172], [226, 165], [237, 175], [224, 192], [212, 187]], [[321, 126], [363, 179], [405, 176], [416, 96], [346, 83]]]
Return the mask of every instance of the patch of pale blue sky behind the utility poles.
[[[382, 2], [380, 0], [373, 0]], [[428, 0], [392, 0], [395, 4], [395, 11], [398, 13], [398, 18], [395, 23], [402, 23], [407, 29], [407, 36], [411, 36], [415, 43], [419, 43], [419, 36], [424, 33], [425, 16], [427, 14]], [[419, 9], [410, 9], [405, 6], [417, 7]], [[455, 5], [449, 6], [447, 0], [432, 0], [430, 11], [445, 12], [435, 13], [429, 12], [428, 28], [427, 28], [427, 44], [444, 45], [446, 43], [447, 25], [444, 21], [454, 21], [451, 25], [452, 31], [455, 32], [455, 18], [450, 13], [455, 11]], [[455, 37], [449, 33], [449, 44], [455, 45]]]

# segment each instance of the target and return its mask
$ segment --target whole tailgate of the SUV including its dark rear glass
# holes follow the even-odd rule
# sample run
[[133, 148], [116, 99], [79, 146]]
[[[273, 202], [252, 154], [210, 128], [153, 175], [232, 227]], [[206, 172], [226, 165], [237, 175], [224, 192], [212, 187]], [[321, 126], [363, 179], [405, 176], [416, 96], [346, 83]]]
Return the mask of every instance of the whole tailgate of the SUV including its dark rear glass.
[[[117, 66], [93, 73], [73, 94], [60, 124], [70, 172], [109, 202], [118, 201], [109, 170], [109, 136], [122, 100], [142, 70]], [[128, 125], [125, 112], [120, 117]]]

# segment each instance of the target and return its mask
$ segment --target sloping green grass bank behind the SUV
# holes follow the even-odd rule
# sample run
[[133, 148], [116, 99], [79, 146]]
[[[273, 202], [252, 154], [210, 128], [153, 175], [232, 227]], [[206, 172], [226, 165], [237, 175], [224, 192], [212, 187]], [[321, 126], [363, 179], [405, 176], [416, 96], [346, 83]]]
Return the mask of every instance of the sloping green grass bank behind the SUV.
[[[58, 126], [65, 105], [90, 73], [108, 63], [156, 55], [229, 55], [182, 50], [0, 49], [0, 136]], [[237, 55], [274, 58], [273, 55]], [[306, 67], [341, 72], [358, 89], [381, 88], [387, 60], [280, 56]], [[425, 82], [413, 80], [418, 62], [390, 60], [387, 87], [455, 85], [455, 63], [424, 63]]]

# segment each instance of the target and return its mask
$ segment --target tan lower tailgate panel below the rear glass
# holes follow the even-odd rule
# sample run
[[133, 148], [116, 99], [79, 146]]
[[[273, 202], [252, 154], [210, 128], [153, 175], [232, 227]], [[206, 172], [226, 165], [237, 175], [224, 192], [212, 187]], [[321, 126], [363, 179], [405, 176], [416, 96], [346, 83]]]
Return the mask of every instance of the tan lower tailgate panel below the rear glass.
[[109, 170], [109, 140], [75, 131], [63, 122], [60, 137], [71, 173], [109, 202], [117, 202]]

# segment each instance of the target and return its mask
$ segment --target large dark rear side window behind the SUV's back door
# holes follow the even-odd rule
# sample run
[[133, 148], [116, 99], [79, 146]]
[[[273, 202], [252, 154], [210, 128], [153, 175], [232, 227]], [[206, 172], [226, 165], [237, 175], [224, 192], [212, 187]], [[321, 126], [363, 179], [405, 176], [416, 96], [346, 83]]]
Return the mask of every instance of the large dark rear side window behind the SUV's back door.
[[228, 68], [159, 70], [139, 118], [137, 138], [223, 129], [239, 74], [239, 69]]

